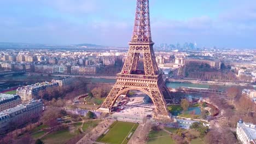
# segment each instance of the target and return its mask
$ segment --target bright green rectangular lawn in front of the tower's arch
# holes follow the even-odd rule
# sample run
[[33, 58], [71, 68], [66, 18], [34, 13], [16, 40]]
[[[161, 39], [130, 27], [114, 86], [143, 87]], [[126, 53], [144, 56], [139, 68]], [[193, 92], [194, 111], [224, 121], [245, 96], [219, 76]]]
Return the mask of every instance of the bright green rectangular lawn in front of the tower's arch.
[[129, 122], [114, 122], [109, 127], [109, 131], [106, 135], [102, 135], [98, 138], [98, 142], [110, 143], [110, 144], [126, 144], [127, 136], [137, 129], [137, 123]]

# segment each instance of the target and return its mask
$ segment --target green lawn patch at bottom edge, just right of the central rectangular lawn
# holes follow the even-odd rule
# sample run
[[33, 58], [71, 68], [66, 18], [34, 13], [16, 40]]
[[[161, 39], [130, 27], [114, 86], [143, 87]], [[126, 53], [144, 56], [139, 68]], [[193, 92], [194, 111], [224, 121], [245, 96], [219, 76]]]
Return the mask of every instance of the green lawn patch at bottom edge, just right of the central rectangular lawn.
[[171, 136], [164, 130], [154, 131], [151, 130], [148, 134], [149, 140], [147, 144], [174, 144]]

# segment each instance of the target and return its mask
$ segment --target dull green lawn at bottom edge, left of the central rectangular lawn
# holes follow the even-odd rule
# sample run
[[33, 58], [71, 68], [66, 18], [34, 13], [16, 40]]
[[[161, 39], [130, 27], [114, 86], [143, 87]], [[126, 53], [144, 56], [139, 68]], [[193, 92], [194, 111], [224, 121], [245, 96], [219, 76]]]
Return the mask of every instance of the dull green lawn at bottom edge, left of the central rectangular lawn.
[[74, 137], [74, 134], [69, 133], [68, 129], [60, 130], [60, 131], [54, 131], [53, 133], [50, 133], [42, 138], [42, 141], [47, 144], [62, 144], [66, 143], [68, 140], [72, 139]]

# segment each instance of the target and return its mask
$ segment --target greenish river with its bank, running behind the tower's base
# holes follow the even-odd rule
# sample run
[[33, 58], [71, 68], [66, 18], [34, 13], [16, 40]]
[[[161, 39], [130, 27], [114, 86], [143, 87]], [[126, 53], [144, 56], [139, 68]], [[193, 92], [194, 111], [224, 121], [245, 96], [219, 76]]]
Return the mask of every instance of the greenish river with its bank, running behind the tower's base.
[[[16, 83], [18, 85], [24, 85], [30, 83], [30, 80], [43, 80], [43, 81], [50, 81], [51, 79], [54, 79], [59, 76], [70, 76], [70, 75], [60, 75], [60, 74], [37, 74], [37, 73], [26, 73], [24, 75], [16, 75], [16, 76], [7, 76], [0, 78], [0, 81], [4, 81], [10, 83], [12, 80], [17, 81], [20, 80], [20, 83]], [[116, 76], [101, 76], [101, 75], [71, 75], [74, 77], [82, 77], [85, 78], [88, 83], [92, 84], [99, 84], [99, 85], [105, 85], [110, 84], [114, 85], [114, 83], [117, 81]], [[32, 79], [33, 78], [33, 79]], [[6, 83], [5, 83], [6, 84]], [[187, 79], [168, 79], [166, 81], [166, 86], [168, 88], [177, 88], [177, 87], [192, 87], [192, 88], [211, 88], [212, 85], [219, 85], [222, 88], [227, 88], [234, 85], [242, 85], [242, 83], [223, 83], [223, 82], [217, 82], [217, 81], [196, 81], [196, 80], [187, 80]], [[243, 83], [245, 85], [245, 83]], [[14, 86], [6, 86], [6, 87], [14, 87]], [[254, 87], [255, 89], [256, 87]]]

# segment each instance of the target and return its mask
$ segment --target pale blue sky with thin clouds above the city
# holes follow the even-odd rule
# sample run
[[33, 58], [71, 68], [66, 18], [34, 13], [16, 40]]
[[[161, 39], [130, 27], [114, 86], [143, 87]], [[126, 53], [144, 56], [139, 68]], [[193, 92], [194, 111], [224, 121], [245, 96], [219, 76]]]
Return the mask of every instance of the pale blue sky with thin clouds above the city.
[[[0, 0], [0, 41], [127, 46], [135, 0]], [[255, 0], [150, 0], [153, 41], [255, 48]]]

